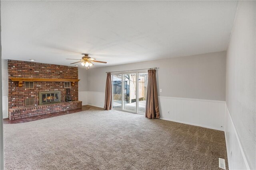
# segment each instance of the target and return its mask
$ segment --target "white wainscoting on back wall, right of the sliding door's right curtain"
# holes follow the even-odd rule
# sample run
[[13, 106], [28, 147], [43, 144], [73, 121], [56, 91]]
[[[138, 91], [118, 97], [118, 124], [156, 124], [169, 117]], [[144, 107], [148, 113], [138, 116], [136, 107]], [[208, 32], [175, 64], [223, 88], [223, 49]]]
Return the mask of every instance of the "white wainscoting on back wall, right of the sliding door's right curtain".
[[158, 101], [160, 119], [224, 131], [225, 101], [162, 96]]

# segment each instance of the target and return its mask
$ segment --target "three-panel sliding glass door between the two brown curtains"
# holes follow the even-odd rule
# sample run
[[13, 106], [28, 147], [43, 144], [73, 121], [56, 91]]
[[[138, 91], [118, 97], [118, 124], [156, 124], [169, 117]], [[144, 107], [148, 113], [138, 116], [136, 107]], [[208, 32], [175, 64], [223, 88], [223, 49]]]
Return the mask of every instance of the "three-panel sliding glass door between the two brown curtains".
[[144, 114], [147, 84], [147, 72], [112, 74], [113, 108]]

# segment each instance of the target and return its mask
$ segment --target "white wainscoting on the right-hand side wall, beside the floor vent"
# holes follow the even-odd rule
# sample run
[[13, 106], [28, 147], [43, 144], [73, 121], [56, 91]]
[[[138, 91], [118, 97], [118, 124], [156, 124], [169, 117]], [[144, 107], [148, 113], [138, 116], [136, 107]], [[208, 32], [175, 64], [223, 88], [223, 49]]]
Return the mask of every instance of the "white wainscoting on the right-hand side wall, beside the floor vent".
[[225, 104], [225, 139], [228, 154], [228, 168], [230, 170], [249, 170], [249, 164], [244, 155], [236, 128]]

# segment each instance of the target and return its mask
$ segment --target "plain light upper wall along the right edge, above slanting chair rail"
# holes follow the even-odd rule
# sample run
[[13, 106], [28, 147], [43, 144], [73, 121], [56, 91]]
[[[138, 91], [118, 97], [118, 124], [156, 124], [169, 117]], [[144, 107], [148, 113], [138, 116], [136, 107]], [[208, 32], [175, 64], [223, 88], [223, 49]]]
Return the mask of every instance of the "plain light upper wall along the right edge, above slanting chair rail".
[[227, 50], [226, 104], [251, 169], [256, 169], [256, 2], [239, 1]]

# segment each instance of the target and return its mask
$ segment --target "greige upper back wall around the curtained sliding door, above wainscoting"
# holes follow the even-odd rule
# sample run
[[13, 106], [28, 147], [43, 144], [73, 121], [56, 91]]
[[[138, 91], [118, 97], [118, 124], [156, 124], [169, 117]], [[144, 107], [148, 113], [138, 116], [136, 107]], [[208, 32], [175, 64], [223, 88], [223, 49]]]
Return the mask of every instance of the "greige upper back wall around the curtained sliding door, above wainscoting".
[[[159, 67], [158, 96], [225, 101], [226, 52], [88, 70], [88, 91], [104, 92], [106, 72]], [[159, 93], [159, 89], [162, 92]]]

